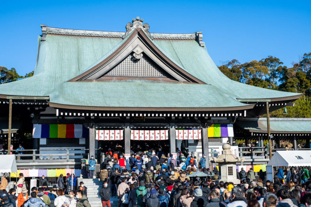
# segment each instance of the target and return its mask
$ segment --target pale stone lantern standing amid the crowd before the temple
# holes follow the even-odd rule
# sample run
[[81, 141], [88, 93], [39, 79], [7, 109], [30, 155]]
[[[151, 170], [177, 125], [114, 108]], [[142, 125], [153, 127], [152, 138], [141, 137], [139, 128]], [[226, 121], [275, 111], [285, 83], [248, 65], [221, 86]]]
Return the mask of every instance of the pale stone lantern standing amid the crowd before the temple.
[[219, 165], [220, 176], [219, 181], [233, 182], [234, 184], [240, 184], [240, 180], [236, 177], [236, 163], [244, 162], [244, 157], [239, 158], [236, 155], [231, 154], [231, 146], [224, 144], [222, 146], [222, 155], [218, 155], [216, 158], [211, 158], [210, 162], [216, 162]]

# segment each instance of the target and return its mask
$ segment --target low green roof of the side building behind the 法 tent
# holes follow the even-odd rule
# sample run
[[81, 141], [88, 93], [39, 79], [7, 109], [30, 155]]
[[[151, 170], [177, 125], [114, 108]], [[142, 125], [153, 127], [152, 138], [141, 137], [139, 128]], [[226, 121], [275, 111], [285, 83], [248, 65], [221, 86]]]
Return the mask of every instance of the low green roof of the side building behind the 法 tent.
[[[240, 128], [253, 133], [267, 133], [267, 118], [239, 118]], [[271, 133], [311, 133], [310, 118], [270, 118]]]

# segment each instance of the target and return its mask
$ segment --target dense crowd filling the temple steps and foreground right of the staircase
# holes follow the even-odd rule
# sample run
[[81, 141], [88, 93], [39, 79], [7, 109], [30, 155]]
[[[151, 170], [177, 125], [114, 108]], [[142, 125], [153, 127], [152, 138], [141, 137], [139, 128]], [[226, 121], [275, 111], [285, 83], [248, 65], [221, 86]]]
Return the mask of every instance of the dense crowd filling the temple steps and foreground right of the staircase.
[[[161, 148], [157, 152], [151, 149], [137, 151], [126, 159], [109, 149], [100, 171], [103, 207], [111, 206], [111, 197], [118, 198], [118, 207], [311, 206], [311, 181], [306, 168], [301, 172], [307, 180], [296, 180], [288, 174], [290, 179], [284, 180], [286, 172], [280, 178], [282, 171], [278, 170], [274, 182], [263, 182], [265, 179], [255, 178], [253, 169], [247, 173], [242, 169], [239, 184], [218, 183], [219, 172], [216, 166], [212, 170], [205, 166], [205, 155], [196, 159], [179, 149], [177, 152], [174, 158], [165, 156]], [[197, 171], [206, 176], [192, 176]]]

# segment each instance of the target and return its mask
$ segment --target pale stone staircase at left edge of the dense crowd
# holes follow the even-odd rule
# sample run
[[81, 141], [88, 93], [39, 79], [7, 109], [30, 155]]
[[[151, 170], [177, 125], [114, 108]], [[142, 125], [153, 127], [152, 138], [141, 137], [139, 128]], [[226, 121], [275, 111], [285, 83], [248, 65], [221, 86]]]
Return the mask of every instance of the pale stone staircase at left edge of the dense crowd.
[[[99, 178], [88, 179], [83, 178], [84, 186], [87, 187], [87, 198], [92, 207], [102, 207], [101, 198], [99, 196], [99, 190], [103, 186], [103, 182]], [[118, 205], [118, 198], [110, 198], [111, 206]]]

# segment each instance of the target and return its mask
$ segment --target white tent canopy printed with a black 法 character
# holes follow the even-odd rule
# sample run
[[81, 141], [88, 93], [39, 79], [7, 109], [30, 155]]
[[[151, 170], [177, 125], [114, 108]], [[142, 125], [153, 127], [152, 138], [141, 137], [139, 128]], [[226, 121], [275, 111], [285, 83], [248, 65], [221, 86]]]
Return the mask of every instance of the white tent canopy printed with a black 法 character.
[[276, 151], [267, 165], [310, 166], [310, 150]]

